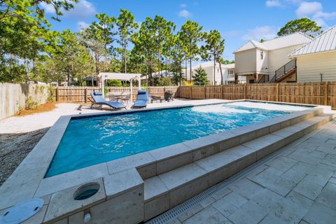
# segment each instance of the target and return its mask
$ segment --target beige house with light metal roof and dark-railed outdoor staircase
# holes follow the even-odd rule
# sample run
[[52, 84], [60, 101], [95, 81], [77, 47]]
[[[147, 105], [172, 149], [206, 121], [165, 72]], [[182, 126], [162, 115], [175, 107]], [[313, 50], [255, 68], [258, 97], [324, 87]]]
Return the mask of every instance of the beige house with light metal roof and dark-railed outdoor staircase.
[[235, 75], [246, 76], [247, 83], [295, 82], [296, 64], [288, 54], [311, 40], [301, 32], [262, 43], [250, 40], [233, 52]]

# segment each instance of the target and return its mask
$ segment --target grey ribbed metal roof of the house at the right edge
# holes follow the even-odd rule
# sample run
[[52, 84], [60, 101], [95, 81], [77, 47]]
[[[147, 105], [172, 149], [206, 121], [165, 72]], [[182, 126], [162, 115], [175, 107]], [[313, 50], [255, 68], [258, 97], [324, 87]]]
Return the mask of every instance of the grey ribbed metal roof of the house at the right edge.
[[336, 25], [320, 36], [317, 36], [309, 43], [303, 45], [301, 48], [290, 53], [288, 57], [297, 57], [300, 55], [314, 54], [330, 50], [336, 50]]

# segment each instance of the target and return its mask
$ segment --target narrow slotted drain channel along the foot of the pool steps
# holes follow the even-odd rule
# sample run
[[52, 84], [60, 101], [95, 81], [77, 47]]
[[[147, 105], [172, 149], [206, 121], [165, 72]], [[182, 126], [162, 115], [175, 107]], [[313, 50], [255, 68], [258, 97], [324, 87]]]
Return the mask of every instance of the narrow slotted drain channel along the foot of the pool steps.
[[211, 197], [211, 195], [214, 195], [214, 193], [217, 193], [219, 190], [223, 190], [224, 188], [227, 188], [233, 182], [238, 181], [239, 179], [242, 179], [247, 174], [255, 171], [255, 169], [257, 169], [258, 167], [261, 167], [265, 162], [272, 160], [276, 156], [283, 153], [283, 151], [286, 151], [286, 149], [292, 148], [293, 146], [300, 144], [302, 141], [308, 139], [309, 137], [311, 137], [311, 135], [315, 134], [318, 131], [319, 130], [315, 130], [311, 132], [310, 134], [307, 134], [306, 136], [304, 136], [304, 139], [300, 138], [300, 139], [293, 141], [287, 146], [281, 148], [279, 151], [276, 151], [272, 153], [271, 155], [267, 156], [266, 158], [263, 158], [259, 160], [258, 162], [255, 162], [253, 165], [246, 167], [246, 169], [243, 169], [237, 174], [231, 176], [229, 179], [222, 181], [221, 183], [217, 183], [216, 185], [208, 188], [207, 190], [204, 190], [199, 195], [196, 195], [190, 198], [190, 200], [187, 200], [186, 202], [179, 204], [178, 206], [166, 211], [165, 213], [160, 214], [159, 216], [156, 216], [155, 218], [152, 218], [151, 220], [147, 221], [146, 224], [165, 224], [168, 221], [171, 221], [173, 218], [176, 218], [180, 214], [183, 214], [184, 211], [191, 209], [197, 204], [200, 204], [200, 202], [202, 202], [203, 200], [206, 200], [208, 197]]

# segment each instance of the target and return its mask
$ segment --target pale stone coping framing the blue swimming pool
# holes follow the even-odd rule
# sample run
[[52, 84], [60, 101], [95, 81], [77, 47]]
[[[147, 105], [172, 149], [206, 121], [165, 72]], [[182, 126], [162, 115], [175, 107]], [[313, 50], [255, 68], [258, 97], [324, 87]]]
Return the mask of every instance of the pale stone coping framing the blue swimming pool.
[[[218, 102], [216, 104], [230, 104], [233, 102], [265, 102], [257, 100], [235, 100], [230, 102]], [[243, 135], [248, 135], [251, 133], [260, 132], [260, 136], [265, 134], [265, 132], [270, 132], [274, 130], [281, 129], [281, 123], [295, 120], [302, 116], [306, 116], [312, 113], [321, 113], [323, 110], [330, 110], [330, 106], [318, 106], [318, 105], [307, 105], [307, 104], [290, 104], [281, 102], [267, 102], [276, 104], [288, 104], [295, 106], [310, 106], [311, 109], [304, 111], [297, 111], [290, 113], [285, 116], [280, 116], [277, 118], [272, 118], [267, 120], [267, 123], [253, 123], [251, 125], [246, 125], [244, 127], [239, 127], [235, 130], [229, 130], [225, 132], [220, 132], [217, 134], [211, 134], [206, 137], [201, 137], [198, 139], [193, 139], [189, 141], [184, 141], [183, 143], [174, 144], [172, 146], [165, 146], [162, 148], [155, 149], [153, 151], [147, 151], [144, 153], [139, 153], [136, 155], [131, 155], [125, 158], [120, 158], [118, 160], [111, 160], [109, 162], [102, 162], [98, 165], [93, 165], [90, 167], [85, 167], [82, 169], [77, 169], [72, 172], [66, 172], [64, 174], [59, 174], [56, 176], [51, 176], [44, 179], [45, 173], [48, 170], [50, 162], [52, 161], [57, 146], [62, 139], [62, 136], [66, 130], [67, 125], [71, 118], [82, 118], [82, 117], [94, 117], [94, 116], [109, 116], [118, 115], [125, 113], [139, 113], [146, 111], [158, 111], [163, 109], [179, 109], [190, 106], [204, 106], [205, 104], [186, 104], [181, 106], [165, 106], [160, 108], [152, 109], [142, 109], [140, 110], [129, 110], [129, 111], [112, 111], [112, 112], [102, 112], [102, 113], [91, 113], [91, 114], [81, 114], [81, 115], [71, 115], [71, 116], [61, 116], [55, 125], [50, 127], [50, 130], [45, 134], [45, 136], [36, 144], [31, 153], [27, 155], [25, 160], [19, 165], [15, 172], [8, 178], [8, 180], [3, 183], [0, 188], [0, 196], [3, 198], [0, 202], [0, 210], [12, 207], [13, 205], [21, 202], [22, 200], [27, 200], [32, 197], [42, 197], [45, 199], [45, 203], [50, 201], [51, 195], [62, 192], [69, 188], [74, 188], [83, 183], [94, 181], [97, 179], [111, 179], [113, 176], [123, 174], [124, 172], [128, 176], [134, 176], [134, 179], [138, 181], [132, 183], [120, 183], [120, 186], [106, 186], [104, 181], [104, 189], [106, 190], [106, 200], [109, 198], [117, 197], [123, 194], [126, 190], [132, 190], [141, 186], [141, 181], [139, 181], [139, 176], [141, 179], [148, 179], [152, 176], [162, 174], [171, 169], [175, 169], [176, 165], [171, 166], [167, 160], [179, 157], [179, 160], [183, 158], [183, 155], [193, 153], [205, 146], [211, 146], [211, 144], [216, 144], [218, 141], [224, 141], [232, 139], [235, 137], [241, 137]], [[289, 122], [290, 123], [290, 122]], [[279, 126], [279, 127], [278, 127]], [[256, 134], [258, 136], [258, 134]], [[242, 140], [239, 140], [241, 144]], [[246, 141], [246, 139], [245, 139]], [[190, 160], [190, 156], [183, 158], [184, 160]], [[193, 160], [195, 158], [192, 158]], [[176, 162], [176, 161], [175, 161]], [[169, 167], [171, 166], [171, 167]], [[177, 165], [179, 167], [179, 164]], [[166, 168], [162, 168], [166, 167]], [[155, 172], [153, 172], [155, 170]], [[143, 183], [142, 183], [143, 185]], [[112, 189], [111, 189], [112, 188]], [[8, 195], [10, 195], [8, 197]]]

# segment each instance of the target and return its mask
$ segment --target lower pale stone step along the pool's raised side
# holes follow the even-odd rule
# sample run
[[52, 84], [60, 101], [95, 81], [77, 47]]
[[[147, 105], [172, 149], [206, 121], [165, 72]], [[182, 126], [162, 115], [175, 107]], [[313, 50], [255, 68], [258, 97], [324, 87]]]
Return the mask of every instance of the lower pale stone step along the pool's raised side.
[[214, 186], [335, 118], [318, 114], [271, 134], [209, 155], [144, 181], [145, 221]]

